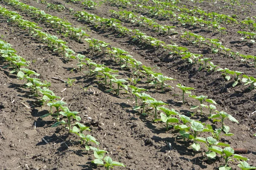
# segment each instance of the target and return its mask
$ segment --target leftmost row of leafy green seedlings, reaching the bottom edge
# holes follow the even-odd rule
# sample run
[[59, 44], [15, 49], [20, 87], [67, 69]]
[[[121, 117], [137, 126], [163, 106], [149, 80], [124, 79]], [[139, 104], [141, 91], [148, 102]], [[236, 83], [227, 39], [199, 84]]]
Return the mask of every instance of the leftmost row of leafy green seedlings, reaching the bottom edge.
[[[7, 9], [0, 7], [1, 14], [8, 14], [8, 17], [14, 18], [17, 13], [8, 11]], [[13, 16], [11, 15], [14, 14]], [[20, 18], [14, 20], [17, 25], [20, 25], [21, 22], [24, 22], [23, 19]], [[35, 29], [35, 28], [34, 28]], [[44, 38], [43, 38], [44, 39]], [[47, 103], [47, 105], [50, 107], [50, 112], [45, 114], [44, 116], [41, 116], [41, 118], [44, 118], [46, 116], [52, 116], [55, 117], [55, 122], [52, 127], [56, 127], [58, 125], [67, 125], [67, 129], [69, 130], [69, 133], [75, 133], [80, 137], [81, 144], [85, 144], [86, 150], [92, 150], [94, 152], [94, 156], [96, 159], [94, 159], [94, 162], [97, 162], [97, 164], [105, 165], [106, 168], [111, 168], [113, 166], [123, 166], [122, 163], [112, 161], [112, 159], [109, 156], [105, 156], [105, 153], [107, 151], [100, 150], [96, 147], [88, 146], [89, 142], [93, 142], [95, 144], [99, 144], [99, 142], [96, 141], [96, 139], [91, 135], [84, 135], [82, 132], [84, 130], [90, 130], [89, 127], [86, 127], [82, 125], [79, 122], [76, 122], [76, 124], [71, 125], [72, 120], [80, 121], [81, 118], [78, 116], [79, 112], [77, 111], [70, 111], [68, 107], [64, 106], [67, 105], [67, 103], [63, 102], [61, 97], [55, 96], [54, 92], [49, 90], [49, 86], [51, 85], [49, 82], [42, 82], [41, 79], [38, 79], [40, 74], [36, 73], [35, 71], [29, 70], [27, 68], [21, 68], [21, 66], [29, 66], [29, 62], [27, 62], [22, 57], [15, 54], [15, 49], [11, 48], [11, 45], [9, 43], [6, 43], [4, 41], [0, 41], [0, 54], [4, 61], [9, 62], [9, 65], [11, 65], [15, 70], [11, 71], [10, 74], [17, 73], [17, 79], [24, 79], [26, 80], [26, 84], [24, 85], [25, 88], [31, 89], [32, 93], [34, 93], [34, 96], [40, 97], [38, 92], [42, 94], [41, 99], [39, 101], [42, 102], [42, 105], [44, 105], [44, 102]], [[6, 65], [4, 68], [7, 68], [9, 65]], [[66, 82], [69, 83], [69, 82]], [[72, 83], [71, 83], [72, 84]], [[58, 100], [58, 101], [57, 101]], [[56, 113], [52, 111], [52, 108], [56, 108]], [[61, 109], [61, 111], [59, 111]], [[63, 116], [62, 119], [60, 116]], [[64, 118], [67, 118], [67, 122], [64, 121]], [[61, 119], [61, 121], [59, 121]], [[72, 128], [71, 128], [72, 126]], [[103, 159], [104, 158], [104, 159]], [[105, 163], [103, 162], [105, 161]]]

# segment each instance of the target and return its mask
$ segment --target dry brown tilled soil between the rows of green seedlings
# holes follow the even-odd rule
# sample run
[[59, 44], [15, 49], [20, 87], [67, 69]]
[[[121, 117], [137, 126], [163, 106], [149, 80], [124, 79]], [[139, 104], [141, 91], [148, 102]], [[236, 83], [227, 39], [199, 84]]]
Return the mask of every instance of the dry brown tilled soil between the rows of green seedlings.
[[[242, 1], [242, 0], [241, 0]], [[131, 53], [131, 55], [143, 62], [146, 66], [155, 67], [155, 70], [168, 77], [177, 79], [168, 82], [175, 87], [177, 83], [196, 88], [193, 91], [195, 95], [206, 95], [214, 99], [218, 105], [218, 111], [225, 111], [237, 120], [239, 124], [226, 121], [230, 126], [230, 132], [234, 136], [225, 137], [223, 142], [229, 143], [233, 148], [243, 148], [248, 150], [246, 154], [241, 154], [250, 160], [247, 161], [251, 166], [256, 166], [256, 95], [255, 90], [248, 91], [247, 86], [240, 83], [232, 88], [232, 80], [226, 82], [221, 77], [220, 72], [198, 72], [198, 65], [189, 65], [185, 60], [179, 57], [172, 57], [162, 49], [154, 49], [139, 43], [131, 42], [131, 37], [116, 37], [116, 32], [111, 29], [96, 29], [88, 23], [78, 22], [75, 17], [69, 14], [68, 8], [72, 7], [74, 11], [86, 10], [87, 12], [97, 14], [101, 17], [109, 18], [110, 9], [118, 10], [109, 3], [102, 3], [95, 10], [84, 9], [81, 4], [66, 3], [64, 0], [49, 0], [51, 3], [61, 3], [66, 5], [67, 10], [57, 12], [49, 10], [44, 4], [36, 3], [33, 0], [22, 0], [23, 3], [41, 8], [48, 14], [66, 18], [73, 26], [86, 27], [93, 31], [88, 31], [91, 37], [110, 43], [111, 46], [122, 48]], [[183, 0], [182, 0], [183, 2]], [[241, 8], [236, 7], [234, 11], [230, 8], [219, 8], [225, 6], [224, 3], [208, 5], [204, 3], [180, 3], [189, 6], [201, 6], [208, 11], [218, 13], [237, 14], [240, 19], [247, 15], [239, 12]], [[0, 2], [0, 5], [8, 8], [10, 11], [18, 11], [6, 3]], [[255, 5], [254, 5], [255, 7]], [[249, 8], [249, 7], [248, 7]], [[133, 8], [126, 9], [131, 11]], [[255, 15], [255, 8], [250, 8], [250, 15]], [[20, 12], [20, 11], [19, 11]], [[26, 13], [20, 12], [26, 20], [38, 22]], [[240, 20], [239, 19], [239, 20]], [[173, 24], [179, 31], [176, 37], [159, 35], [156, 32], [139, 27], [141, 31], [152, 37], [157, 37], [166, 43], [175, 42], [182, 45], [193, 53], [202, 53], [204, 57], [212, 58], [214, 64], [219, 64], [221, 68], [229, 68], [234, 71], [242, 71], [244, 74], [255, 77], [255, 68], [252, 65], [242, 63], [240, 59], [233, 60], [231, 57], [225, 57], [224, 54], [212, 54], [210, 48], [198, 48], [187, 44], [187, 41], [180, 38], [181, 31], [192, 31], [207, 38], [218, 38], [233, 51], [239, 51], [241, 54], [256, 55], [255, 45], [240, 41], [240, 35], [236, 33], [239, 26], [227, 25], [227, 34], [207, 32], [202, 28], [192, 26], [180, 26], [177, 23], [169, 23], [168, 20], [157, 20], [161, 24]], [[57, 30], [51, 28], [49, 24], [38, 22], [43, 31], [52, 35], [58, 35], [68, 42], [68, 46], [77, 54], [84, 54], [96, 63], [105, 64], [110, 68], [119, 70], [120, 78], [131, 76], [131, 71], [121, 69], [119, 65], [103, 53], [94, 53], [88, 49], [87, 43], [79, 43], [69, 37], [63, 37]], [[124, 23], [128, 28], [137, 28], [131, 23]], [[56, 95], [64, 98], [70, 106], [71, 111], [79, 111], [81, 123], [90, 126], [91, 132], [86, 132], [94, 136], [99, 142], [99, 148], [108, 151], [108, 154], [115, 161], [126, 165], [123, 167], [114, 167], [114, 169], [128, 170], [213, 170], [224, 164], [224, 159], [217, 157], [216, 160], [207, 160], [204, 156], [203, 148], [195, 152], [189, 147], [190, 142], [183, 142], [177, 131], [171, 129], [166, 131], [165, 124], [162, 122], [153, 122], [153, 114], [143, 116], [138, 111], [133, 111], [134, 96], [124, 91], [119, 96], [114, 92], [107, 92], [108, 86], [102, 82], [103, 79], [90, 77], [88, 74], [79, 71], [71, 71], [76, 67], [75, 60], [67, 62], [63, 57], [58, 57], [55, 52], [50, 51], [46, 44], [38, 42], [34, 37], [29, 36], [26, 31], [8, 23], [3, 17], [0, 17], [0, 35], [1, 39], [12, 44], [17, 50], [17, 54], [31, 61], [29, 69], [40, 74], [40, 79], [51, 82], [51, 89]], [[33, 61], [33, 62], [32, 62]], [[4, 65], [0, 63], [1, 67]], [[29, 89], [23, 88], [24, 81], [16, 79], [14, 74], [9, 74], [10, 68], [0, 69], [0, 168], [7, 169], [26, 169], [26, 170], [92, 170], [104, 169], [96, 167], [91, 161], [94, 159], [91, 151], [84, 151], [79, 139], [75, 135], [69, 135], [64, 127], [51, 127], [54, 119], [47, 117], [41, 119], [40, 116], [48, 113], [48, 106], [39, 105], [38, 98], [31, 96]], [[84, 71], [88, 71], [84, 68]], [[73, 86], [69, 87], [65, 83], [51, 79], [51, 77], [61, 77], [76, 79]], [[145, 83], [144, 77], [138, 83], [138, 87], [147, 88], [148, 94], [157, 100], [162, 100], [169, 104], [169, 108], [191, 116], [189, 114], [192, 105], [197, 105], [197, 101], [186, 97], [186, 102], [181, 105], [178, 88], [165, 89], [160, 93], [160, 88], [155, 89]], [[90, 86], [90, 87], [89, 87]], [[81, 87], [89, 87], [84, 91]], [[67, 90], [63, 91], [64, 88]], [[63, 91], [61, 93], [61, 91]], [[148, 113], [153, 113], [151, 108], [147, 107]], [[206, 124], [213, 124], [207, 119], [207, 116], [195, 116], [191, 119], [200, 120]], [[36, 125], [36, 127], [35, 127]], [[219, 123], [214, 123], [219, 127]], [[206, 134], [205, 136], [209, 136]], [[42, 140], [44, 138], [48, 143]], [[171, 146], [169, 147], [169, 144]], [[95, 145], [93, 145], [95, 146]], [[238, 169], [237, 163], [230, 163], [230, 167]]]

